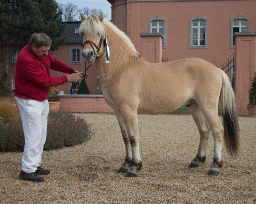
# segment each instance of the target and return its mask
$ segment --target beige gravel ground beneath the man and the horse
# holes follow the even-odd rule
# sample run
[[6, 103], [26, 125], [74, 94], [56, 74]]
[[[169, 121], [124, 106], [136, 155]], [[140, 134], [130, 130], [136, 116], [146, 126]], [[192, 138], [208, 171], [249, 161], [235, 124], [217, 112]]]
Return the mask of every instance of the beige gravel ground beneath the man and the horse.
[[137, 178], [116, 173], [125, 146], [113, 114], [77, 114], [92, 124], [91, 139], [75, 147], [44, 151], [51, 173], [42, 183], [20, 181], [22, 153], [0, 154], [0, 203], [253, 203], [256, 204], [256, 118], [239, 117], [241, 153], [223, 147], [220, 176], [207, 176], [213, 156], [188, 168], [199, 135], [192, 116], [139, 115], [143, 169]]

